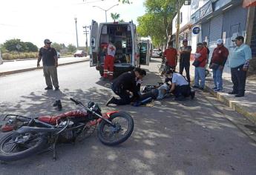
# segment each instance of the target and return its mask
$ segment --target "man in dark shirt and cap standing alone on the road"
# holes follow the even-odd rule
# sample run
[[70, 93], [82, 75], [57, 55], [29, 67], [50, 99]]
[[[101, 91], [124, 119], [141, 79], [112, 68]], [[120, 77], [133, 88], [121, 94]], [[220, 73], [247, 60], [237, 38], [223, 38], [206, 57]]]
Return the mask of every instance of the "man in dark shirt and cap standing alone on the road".
[[39, 58], [37, 60], [37, 67], [40, 67], [40, 61], [43, 62], [43, 71], [47, 87], [45, 90], [53, 89], [59, 90], [59, 82], [57, 75], [58, 57], [57, 52], [53, 47], [50, 47], [50, 39], [45, 39], [45, 46], [39, 50]]

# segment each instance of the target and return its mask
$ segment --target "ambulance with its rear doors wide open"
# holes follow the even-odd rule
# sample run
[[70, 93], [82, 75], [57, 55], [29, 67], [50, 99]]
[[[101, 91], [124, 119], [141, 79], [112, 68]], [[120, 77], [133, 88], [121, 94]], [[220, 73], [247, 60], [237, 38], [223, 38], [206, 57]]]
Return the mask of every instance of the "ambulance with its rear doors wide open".
[[116, 47], [114, 77], [142, 65], [137, 44], [136, 25], [133, 22], [98, 24], [92, 21], [90, 29], [90, 66], [95, 66], [101, 76], [104, 73], [104, 48], [109, 42]]

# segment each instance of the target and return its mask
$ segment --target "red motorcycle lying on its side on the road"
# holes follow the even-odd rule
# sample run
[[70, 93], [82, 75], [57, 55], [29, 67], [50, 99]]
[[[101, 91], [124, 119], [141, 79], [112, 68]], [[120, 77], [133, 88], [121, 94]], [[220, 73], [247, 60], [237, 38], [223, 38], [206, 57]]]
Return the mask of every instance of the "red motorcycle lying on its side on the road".
[[[57, 116], [27, 116], [8, 114], [1, 131], [9, 132], [0, 139], [0, 160], [13, 161], [35, 153], [53, 150], [56, 159], [56, 144], [85, 139], [97, 128], [97, 136], [105, 145], [125, 142], [134, 131], [134, 120], [125, 112], [102, 113], [99, 105], [70, 98], [81, 109]], [[98, 125], [99, 124], [99, 125]]]

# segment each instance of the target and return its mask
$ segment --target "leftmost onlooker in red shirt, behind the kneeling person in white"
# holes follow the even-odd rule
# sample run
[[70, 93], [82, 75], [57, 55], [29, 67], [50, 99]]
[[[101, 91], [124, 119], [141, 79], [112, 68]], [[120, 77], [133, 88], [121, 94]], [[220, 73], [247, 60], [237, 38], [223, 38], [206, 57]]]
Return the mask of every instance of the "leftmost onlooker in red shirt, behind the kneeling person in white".
[[163, 53], [163, 55], [166, 57], [167, 70], [175, 71], [175, 68], [177, 66], [177, 50], [174, 47], [172, 47], [171, 42], [168, 42], [168, 47]]

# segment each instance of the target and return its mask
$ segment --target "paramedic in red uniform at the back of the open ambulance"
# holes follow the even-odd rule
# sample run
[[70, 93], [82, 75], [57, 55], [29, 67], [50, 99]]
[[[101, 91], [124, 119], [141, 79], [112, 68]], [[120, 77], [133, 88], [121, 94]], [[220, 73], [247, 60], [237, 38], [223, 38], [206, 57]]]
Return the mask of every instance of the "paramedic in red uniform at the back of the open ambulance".
[[116, 47], [112, 42], [108, 44], [107, 47], [107, 56], [105, 56], [104, 59], [104, 74], [103, 77], [109, 80], [113, 79], [113, 73], [114, 73], [114, 60], [115, 60], [115, 54], [116, 54]]

